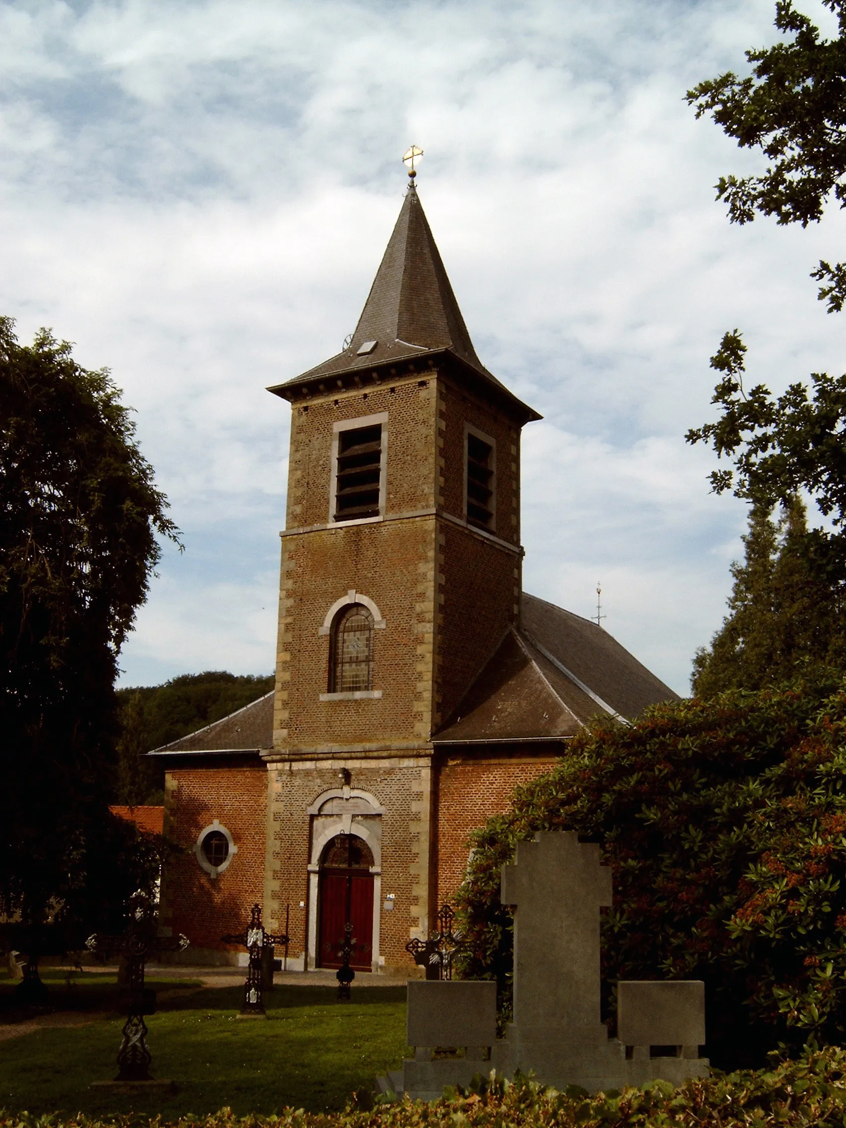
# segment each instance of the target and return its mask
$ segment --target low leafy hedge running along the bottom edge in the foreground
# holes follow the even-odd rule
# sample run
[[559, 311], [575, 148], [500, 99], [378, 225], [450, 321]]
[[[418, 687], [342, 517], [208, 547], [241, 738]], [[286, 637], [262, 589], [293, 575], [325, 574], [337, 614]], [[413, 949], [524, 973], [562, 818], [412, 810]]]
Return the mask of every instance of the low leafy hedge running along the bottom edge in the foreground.
[[[373, 1103], [369, 1093], [344, 1112], [284, 1109], [274, 1117], [237, 1118], [228, 1109], [210, 1117], [183, 1117], [177, 1128], [843, 1128], [846, 1120], [846, 1052], [805, 1052], [767, 1072], [691, 1081], [679, 1089], [652, 1082], [642, 1089], [589, 1096], [563, 1093], [531, 1081], [478, 1084], [446, 1091], [440, 1101]], [[78, 1116], [30, 1118], [0, 1112], [0, 1128], [161, 1128], [161, 1119]]]

